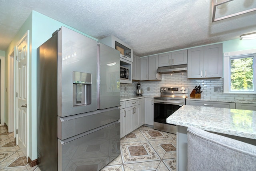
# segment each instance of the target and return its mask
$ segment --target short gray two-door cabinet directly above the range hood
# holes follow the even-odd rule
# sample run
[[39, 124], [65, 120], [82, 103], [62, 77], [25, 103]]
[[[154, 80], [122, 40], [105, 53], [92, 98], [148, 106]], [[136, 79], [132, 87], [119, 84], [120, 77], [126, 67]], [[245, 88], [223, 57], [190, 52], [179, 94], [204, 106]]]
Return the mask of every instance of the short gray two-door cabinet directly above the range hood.
[[179, 50], [158, 55], [158, 66], [187, 64], [188, 50]]

